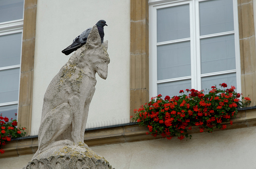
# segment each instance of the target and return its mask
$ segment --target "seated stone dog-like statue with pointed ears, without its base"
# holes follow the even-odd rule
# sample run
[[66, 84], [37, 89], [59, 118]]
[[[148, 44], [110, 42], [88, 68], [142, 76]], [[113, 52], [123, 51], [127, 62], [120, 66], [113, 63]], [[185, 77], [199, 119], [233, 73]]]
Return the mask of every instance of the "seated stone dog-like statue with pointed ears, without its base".
[[97, 26], [93, 26], [86, 44], [52, 79], [44, 95], [38, 150], [33, 159], [52, 147], [85, 145], [84, 131], [95, 91], [95, 74], [102, 79], [108, 75], [107, 49], [108, 41], [102, 44]]

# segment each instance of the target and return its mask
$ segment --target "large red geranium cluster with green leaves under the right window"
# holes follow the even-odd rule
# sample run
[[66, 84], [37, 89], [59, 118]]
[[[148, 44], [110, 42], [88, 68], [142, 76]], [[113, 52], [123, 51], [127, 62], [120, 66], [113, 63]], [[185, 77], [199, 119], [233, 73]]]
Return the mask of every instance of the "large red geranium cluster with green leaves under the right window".
[[[225, 88], [227, 84], [222, 83], [220, 86]], [[225, 129], [226, 124], [221, 123], [230, 122], [232, 125], [230, 119], [236, 117], [237, 108], [250, 104], [248, 97], [242, 97], [244, 102], [239, 100], [241, 94], [234, 89], [234, 86], [226, 90], [212, 86], [208, 94], [204, 94], [204, 90], [186, 89], [188, 95], [166, 96], [164, 100], [159, 94], [134, 110], [136, 114], [133, 119], [148, 127], [147, 134], [161, 135], [167, 139], [178, 136], [182, 140], [189, 137], [187, 129], [192, 130], [193, 126], [198, 126], [200, 132]], [[184, 93], [184, 90], [180, 90], [180, 93]]]

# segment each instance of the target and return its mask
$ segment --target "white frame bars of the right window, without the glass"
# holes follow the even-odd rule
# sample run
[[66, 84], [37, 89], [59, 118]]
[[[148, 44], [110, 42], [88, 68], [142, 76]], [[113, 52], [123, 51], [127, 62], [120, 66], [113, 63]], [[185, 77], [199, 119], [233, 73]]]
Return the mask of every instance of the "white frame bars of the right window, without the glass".
[[[196, 90], [202, 90], [202, 77], [211, 77], [215, 75], [227, 75], [236, 73], [236, 89], [241, 93], [241, 67], [240, 67], [240, 44], [238, 31], [238, 5], [237, 1], [233, 0], [233, 16], [234, 16], [234, 31], [227, 31], [222, 33], [214, 33], [211, 35], [200, 36], [199, 23], [199, 2], [208, 0], [149, 0], [149, 96], [153, 97], [158, 94], [157, 84], [172, 82], [177, 80], [190, 80], [191, 87]], [[178, 39], [172, 41], [165, 41], [157, 43], [157, 10], [161, 8], [190, 5], [190, 37], [185, 39]], [[201, 75], [201, 61], [200, 61], [200, 39], [208, 37], [219, 37], [221, 35], [234, 35], [235, 43], [235, 60], [236, 69], [228, 71], [220, 71], [215, 73], [206, 73]], [[199, 38], [197, 38], [199, 37]], [[175, 79], [157, 80], [157, 46], [170, 44], [175, 42], [190, 41], [191, 53], [191, 76], [181, 77]], [[199, 65], [199, 66], [198, 66]], [[214, 85], [214, 84], [213, 84]]]

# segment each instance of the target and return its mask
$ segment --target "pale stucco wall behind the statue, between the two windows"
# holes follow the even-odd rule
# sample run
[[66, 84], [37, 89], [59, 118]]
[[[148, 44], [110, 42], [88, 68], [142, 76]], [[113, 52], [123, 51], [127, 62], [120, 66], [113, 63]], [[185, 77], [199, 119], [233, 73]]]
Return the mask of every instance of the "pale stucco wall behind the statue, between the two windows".
[[130, 0], [38, 0], [31, 135], [38, 134], [46, 88], [69, 56], [61, 51], [85, 29], [104, 19], [110, 64], [108, 78], [96, 75], [86, 128], [130, 120]]

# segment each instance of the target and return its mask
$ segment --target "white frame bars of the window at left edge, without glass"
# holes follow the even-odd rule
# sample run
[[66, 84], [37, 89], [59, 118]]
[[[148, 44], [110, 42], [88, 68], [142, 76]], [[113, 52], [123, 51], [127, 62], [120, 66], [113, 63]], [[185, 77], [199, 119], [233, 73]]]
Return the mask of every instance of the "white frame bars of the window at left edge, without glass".
[[[24, 12], [23, 12], [23, 15], [24, 15]], [[22, 18], [24, 18], [24, 16], [22, 16]], [[21, 33], [22, 37], [23, 37], [23, 24], [24, 24], [23, 19], [0, 23], [0, 36], [10, 35], [10, 34], [14, 34], [14, 33]], [[22, 41], [22, 37], [21, 37], [21, 41]], [[21, 42], [21, 44], [22, 44], [22, 42]], [[7, 66], [7, 67], [0, 67], [0, 71], [20, 68], [21, 55], [22, 55], [22, 46], [20, 47], [20, 64], [19, 65]], [[19, 75], [19, 77], [20, 77], [20, 75]], [[19, 86], [20, 86], [20, 78], [19, 78]], [[20, 91], [20, 88], [19, 88], [19, 91]], [[19, 91], [18, 91], [18, 99], [19, 99], [19, 96], [20, 96]], [[12, 106], [12, 105], [17, 105], [18, 106], [18, 100], [14, 101], [14, 102], [1, 103], [0, 107]], [[18, 112], [17, 112], [17, 114], [18, 114]], [[18, 116], [17, 116], [17, 120], [18, 120]]]

